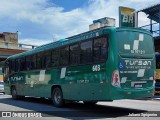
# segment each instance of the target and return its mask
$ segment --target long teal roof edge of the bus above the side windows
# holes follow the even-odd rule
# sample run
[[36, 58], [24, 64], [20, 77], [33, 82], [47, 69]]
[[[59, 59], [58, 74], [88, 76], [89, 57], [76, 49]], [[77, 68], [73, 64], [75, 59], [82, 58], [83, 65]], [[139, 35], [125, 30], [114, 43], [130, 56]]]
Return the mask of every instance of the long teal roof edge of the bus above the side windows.
[[72, 37], [68, 37], [66, 39], [60, 39], [59, 41], [39, 46], [39, 47], [37, 47], [33, 50], [29, 50], [27, 52], [12, 55], [12, 56], [8, 57], [7, 60], [16, 59], [16, 58], [20, 58], [20, 57], [24, 57], [24, 56], [29, 56], [29, 55], [36, 54], [36, 53], [41, 52], [41, 51], [45, 51], [45, 50], [49, 50], [49, 49], [53, 49], [53, 48], [58, 48], [58, 47], [61, 47], [61, 46], [67, 45], [67, 44], [75, 43], [77, 41], [82, 41], [82, 40], [85, 40], [85, 39], [97, 37], [97, 36], [106, 34], [107, 31], [112, 31], [112, 30], [115, 31], [116, 29], [118, 31], [119, 30], [129, 30], [129, 29], [130, 30], [136, 30], [136, 31], [137, 30], [142, 31], [142, 29], [137, 29], [137, 28], [103, 27], [103, 28], [99, 28], [99, 29], [96, 29], [96, 30], [84, 32], [84, 33], [81, 33], [81, 34], [78, 34], [78, 35], [75, 35], [75, 36], [72, 36]]

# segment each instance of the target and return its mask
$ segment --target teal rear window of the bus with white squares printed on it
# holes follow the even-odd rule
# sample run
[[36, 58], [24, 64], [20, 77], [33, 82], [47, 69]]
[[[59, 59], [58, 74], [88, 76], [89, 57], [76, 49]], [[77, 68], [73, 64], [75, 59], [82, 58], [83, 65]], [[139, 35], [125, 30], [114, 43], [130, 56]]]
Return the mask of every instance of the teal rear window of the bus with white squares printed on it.
[[152, 36], [134, 32], [134, 31], [118, 31], [117, 42], [120, 54], [153, 54]]

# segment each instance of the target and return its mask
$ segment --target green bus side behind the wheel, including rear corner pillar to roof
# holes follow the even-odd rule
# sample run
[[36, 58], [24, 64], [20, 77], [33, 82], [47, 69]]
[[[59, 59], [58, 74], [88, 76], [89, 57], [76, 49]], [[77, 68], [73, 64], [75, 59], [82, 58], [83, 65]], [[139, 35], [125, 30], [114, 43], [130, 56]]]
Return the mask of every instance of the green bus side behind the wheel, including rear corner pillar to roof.
[[[111, 100], [114, 96], [111, 90], [111, 79], [113, 71], [118, 69], [117, 44], [115, 43], [116, 30], [106, 30], [104, 33], [109, 35], [106, 61], [104, 64], [68, 68], [65, 78], [66, 84], [63, 85], [66, 99], [104, 101]], [[100, 66], [100, 71], [93, 70], [96, 66]]]

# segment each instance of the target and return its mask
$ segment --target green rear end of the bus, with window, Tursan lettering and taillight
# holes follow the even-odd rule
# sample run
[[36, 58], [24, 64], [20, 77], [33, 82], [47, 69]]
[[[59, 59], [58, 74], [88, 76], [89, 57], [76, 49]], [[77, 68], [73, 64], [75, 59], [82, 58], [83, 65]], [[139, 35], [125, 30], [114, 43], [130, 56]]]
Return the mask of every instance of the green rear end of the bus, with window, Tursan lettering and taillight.
[[143, 98], [154, 95], [155, 56], [153, 39], [140, 30], [119, 29], [117, 70], [113, 72], [113, 99]]

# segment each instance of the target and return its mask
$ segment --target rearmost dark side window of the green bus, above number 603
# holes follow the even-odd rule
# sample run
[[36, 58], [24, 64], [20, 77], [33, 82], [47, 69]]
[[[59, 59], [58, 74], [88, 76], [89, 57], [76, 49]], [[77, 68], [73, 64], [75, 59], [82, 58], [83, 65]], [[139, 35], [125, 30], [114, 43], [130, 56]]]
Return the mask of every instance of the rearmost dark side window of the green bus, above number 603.
[[103, 61], [107, 57], [107, 37], [100, 37], [94, 39], [93, 45], [93, 59], [94, 62]]

